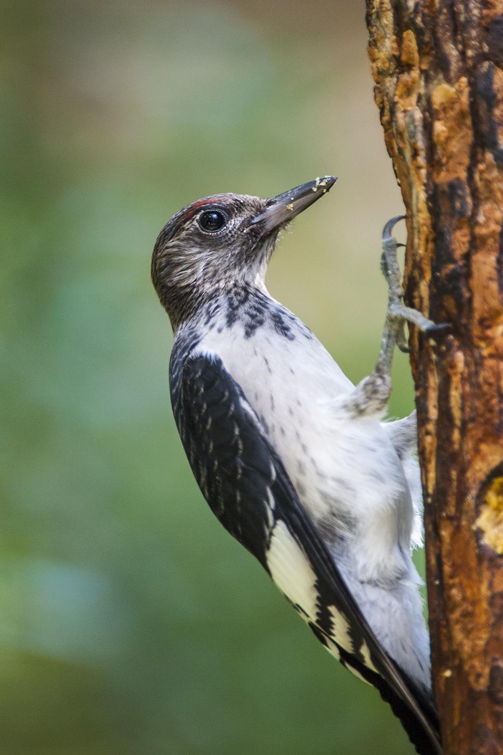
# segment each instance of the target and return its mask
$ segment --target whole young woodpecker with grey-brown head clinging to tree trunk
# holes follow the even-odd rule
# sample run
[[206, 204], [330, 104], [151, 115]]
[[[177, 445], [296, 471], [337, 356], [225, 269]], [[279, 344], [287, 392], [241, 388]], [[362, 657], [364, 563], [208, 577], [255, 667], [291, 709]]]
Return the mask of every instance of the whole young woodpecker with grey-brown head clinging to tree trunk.
[[441, 753], [429, 639], [411, 550], [421, 541], [416, 418], [383, 421], [404, 322], [388, 221], [388, 310], [373, 373], [354, 386], [268, 293], [281, 230], [335, 177], [260, 199], [226, 193], [164, 226], [152, 282], [174, 331], [170, 395], [195, 479], [219, 521], [342, 664], [391, 704], [422, 755]]

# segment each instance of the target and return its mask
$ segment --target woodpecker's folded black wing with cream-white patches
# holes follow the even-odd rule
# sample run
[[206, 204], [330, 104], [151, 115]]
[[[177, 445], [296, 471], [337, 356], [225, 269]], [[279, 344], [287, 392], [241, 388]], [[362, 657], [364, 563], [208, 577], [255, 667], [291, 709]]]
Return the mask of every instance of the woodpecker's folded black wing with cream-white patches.
[[218, 357], [184, 356], [170, 368], [173, 413], [213, 513], [333, 655], [379, 689], [416, 750], [438, 755], [431, 704], [376, 640], [241, 387]]

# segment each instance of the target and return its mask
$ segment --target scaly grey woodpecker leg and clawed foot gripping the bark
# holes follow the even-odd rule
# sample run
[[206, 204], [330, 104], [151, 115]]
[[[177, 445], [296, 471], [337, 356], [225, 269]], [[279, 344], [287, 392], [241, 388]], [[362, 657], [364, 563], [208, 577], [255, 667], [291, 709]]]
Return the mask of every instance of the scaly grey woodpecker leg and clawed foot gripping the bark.
[[446, 328], [436, 325], [418, 310], [406, 307], [400, 282], [400, 267], [397, 260], [397, 239], [391, 236], [393, 227], [403, 215], [388, 220], [382, 231], [381, 270], [388, 282], [388, 311], [382, 333], [381, 350], [374, 371], [360, 381], [346, 402], [346, 411], [359, 416], [379, 416], [385, 411], [391, 393], [391, 364], [395, 344], [407, 352], [405, 322], [413, 322], [419, 330], [430, 333]]

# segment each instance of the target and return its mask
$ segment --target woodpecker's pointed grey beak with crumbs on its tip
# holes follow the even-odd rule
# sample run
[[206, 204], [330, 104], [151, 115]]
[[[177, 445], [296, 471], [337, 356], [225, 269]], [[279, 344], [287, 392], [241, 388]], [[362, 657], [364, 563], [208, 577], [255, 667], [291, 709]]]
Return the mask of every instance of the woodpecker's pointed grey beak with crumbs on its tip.
[[324, 176], [268, 199], [265, 211], [254, 217], [251, 224], [260, 223], [265, 233], [281, 228], [330, 191], [336, 180], [334, 176]]

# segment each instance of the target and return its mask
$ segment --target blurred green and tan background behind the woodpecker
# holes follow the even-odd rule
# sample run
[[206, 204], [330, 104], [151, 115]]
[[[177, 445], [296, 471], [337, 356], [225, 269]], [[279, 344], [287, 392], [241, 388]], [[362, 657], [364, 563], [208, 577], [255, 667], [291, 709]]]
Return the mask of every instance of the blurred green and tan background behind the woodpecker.
[[[0, 752], [412, 753], [210, 513], [149, 280], [182, 205], [335, 173], [268, 285], [370, 371], [402, 203], [363, 0], [2, 8]], [[394, 373], [402, 416], [403, 356]]]

